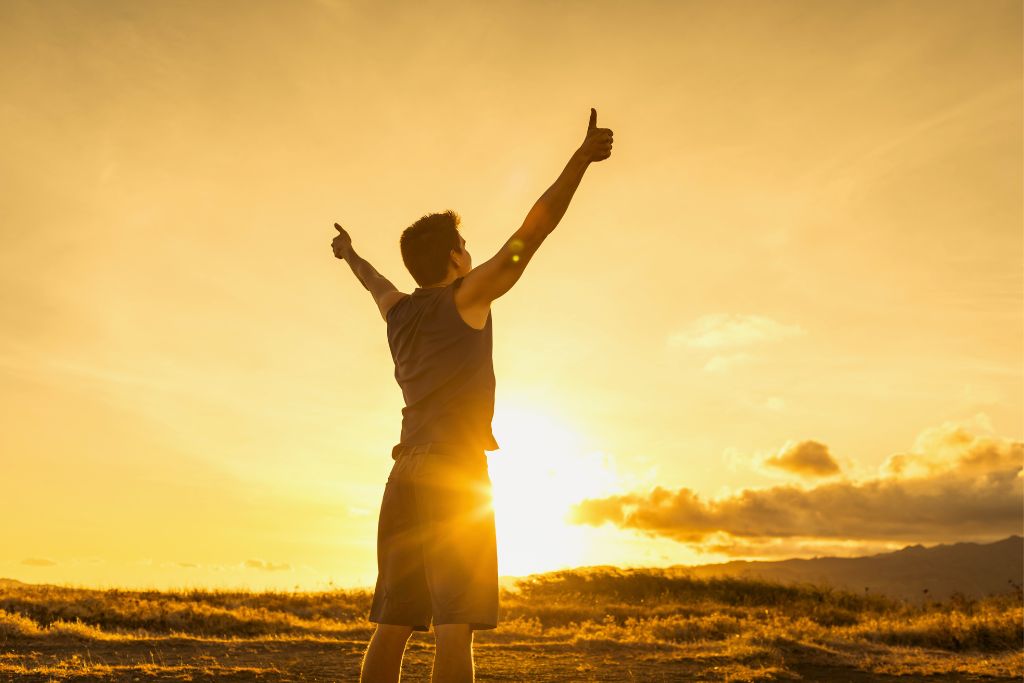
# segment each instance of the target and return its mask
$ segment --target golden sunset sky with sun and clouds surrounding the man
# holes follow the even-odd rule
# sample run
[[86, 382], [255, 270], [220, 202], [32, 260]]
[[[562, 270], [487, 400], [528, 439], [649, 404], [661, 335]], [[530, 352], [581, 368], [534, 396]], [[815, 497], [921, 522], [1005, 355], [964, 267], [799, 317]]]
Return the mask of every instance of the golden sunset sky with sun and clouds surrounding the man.
[[1020, 532], [1017, 0], [26, 0], [0, 38], [0, 577], [372, 584], [401, 393], [332, 224], [403, 291], [425, 213], [482, 262], [591, 106], [614, 154], [493, 309], [503, 574]]

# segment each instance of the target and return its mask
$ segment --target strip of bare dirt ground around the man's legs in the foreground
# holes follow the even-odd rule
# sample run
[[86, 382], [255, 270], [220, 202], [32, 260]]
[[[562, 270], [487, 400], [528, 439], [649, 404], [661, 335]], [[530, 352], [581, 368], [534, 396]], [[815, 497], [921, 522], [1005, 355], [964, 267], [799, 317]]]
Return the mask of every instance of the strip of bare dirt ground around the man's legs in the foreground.
[[[187, 638], [0, 645], [0, 681], [357, 681], [366, 641]], [[410, 641], [401, 680], [427, 682], [433, 658], [427, 638]], [[707, 655], [568, 644], [476, 643], [478, 681], [1017, 681], [961, 674], [883, 676], [829, 663], [809, 648], [780, 652], [773, 667]]]

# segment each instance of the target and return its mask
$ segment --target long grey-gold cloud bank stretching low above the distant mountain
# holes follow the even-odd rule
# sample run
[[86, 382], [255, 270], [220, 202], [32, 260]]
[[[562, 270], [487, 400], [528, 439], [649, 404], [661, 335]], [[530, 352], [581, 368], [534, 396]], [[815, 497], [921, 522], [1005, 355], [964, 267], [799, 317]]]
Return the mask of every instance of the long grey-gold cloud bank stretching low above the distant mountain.
[[1022, 461], [1024, 442], [947, 423], [923, 432], [914, 450], [863, 481], [745, 489], [717, 500], [655, 486], [585, 500], [571, 517], [695, 545], [720, 543], [723, 533], [748, 542], [992, 539], [1019, 533], [1024, 524]]

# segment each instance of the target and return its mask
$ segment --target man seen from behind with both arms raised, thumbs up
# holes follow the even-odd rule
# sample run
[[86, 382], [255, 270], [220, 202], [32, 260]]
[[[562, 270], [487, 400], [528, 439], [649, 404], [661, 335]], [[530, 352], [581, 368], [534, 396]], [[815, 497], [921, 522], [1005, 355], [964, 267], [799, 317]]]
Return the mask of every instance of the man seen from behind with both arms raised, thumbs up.
[[460, 218], [423, 216], [401, 236], [402, 260], [419, 285], [395, 289], [352, 249], [338, 223], [332, 247], [373, 295], [387, 324], [394, 376], [406, 400], [401, 438], [384, 487], [377, 537], [377, 624], [362, 683], [398, 681], [413, 631], [434, 625], [433, 683], [473, 681], [473, 631], [498, 626], [498, 549], [485, 451], [495, 403], [490, 302], [509, 291], [555, 229], [584, 172], [611, 156], [612, 133], [597, 127], [522, 225], [495, 256], [473, 267]]

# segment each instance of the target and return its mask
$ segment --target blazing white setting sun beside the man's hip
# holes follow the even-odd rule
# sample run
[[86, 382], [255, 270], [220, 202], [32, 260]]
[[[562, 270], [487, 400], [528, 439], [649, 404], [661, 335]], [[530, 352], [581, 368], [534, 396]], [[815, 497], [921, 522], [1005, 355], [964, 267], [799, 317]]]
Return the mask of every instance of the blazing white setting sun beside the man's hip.
[[573, 503], [615, 489], [606, 456], [586, 453], [579, 432], [532, 411], [495, 415], [501, 449], [488, 454], [499, 573], [522, 575], [579, 566], [589, 533], [567, 521]]

